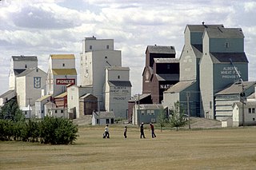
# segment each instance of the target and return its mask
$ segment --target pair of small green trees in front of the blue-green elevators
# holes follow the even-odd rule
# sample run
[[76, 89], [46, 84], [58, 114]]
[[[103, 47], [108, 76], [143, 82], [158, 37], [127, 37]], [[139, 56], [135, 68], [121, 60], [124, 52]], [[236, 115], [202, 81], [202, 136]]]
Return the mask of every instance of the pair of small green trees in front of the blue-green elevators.
[[178, 131], [179, 127], [186, 125], [187, 119], [185, 117], [185, 111], [177, 101], [174, 103], [174, 108], [170, 109], [170, 117], [166, 116], [166, 111], [162, 109], [161, 113], [158, 115], [158, 125], [162, 131], [162, 127], [170, 125], [170, 127], [175, 127]]

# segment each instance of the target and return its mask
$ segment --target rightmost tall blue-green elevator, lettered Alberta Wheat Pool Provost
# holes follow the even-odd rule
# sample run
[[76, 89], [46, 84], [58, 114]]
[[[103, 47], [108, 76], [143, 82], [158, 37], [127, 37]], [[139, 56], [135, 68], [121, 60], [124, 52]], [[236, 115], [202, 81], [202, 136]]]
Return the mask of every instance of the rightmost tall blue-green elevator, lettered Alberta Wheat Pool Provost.
[[206, 28], [202, 42], [199, 69], [202, 115], [215, 119], [214, 95], [239, 79], [248, 81], [244, 35], [240, 28]]

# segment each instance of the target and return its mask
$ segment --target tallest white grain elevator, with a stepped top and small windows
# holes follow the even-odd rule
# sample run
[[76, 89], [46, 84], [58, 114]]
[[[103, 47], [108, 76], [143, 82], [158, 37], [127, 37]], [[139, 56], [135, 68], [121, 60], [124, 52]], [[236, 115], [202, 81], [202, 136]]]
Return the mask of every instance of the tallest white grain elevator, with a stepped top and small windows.
[[82, 86], [93, 88], [92, 94], [98, 97], [102, 110], [105, 110], [103, 87], [108, 66], [122, 66], [121, 51], [114, 50], [114, 40], [85, 38], [80, 59], [80, 81]]

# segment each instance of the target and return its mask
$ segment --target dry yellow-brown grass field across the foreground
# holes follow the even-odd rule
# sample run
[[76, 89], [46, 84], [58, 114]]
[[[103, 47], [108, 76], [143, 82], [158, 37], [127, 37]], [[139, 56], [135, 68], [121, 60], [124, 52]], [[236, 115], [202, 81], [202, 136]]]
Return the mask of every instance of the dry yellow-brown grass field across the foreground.
[[138, 127], [82, 126], [71, 145], [0, 142], [0, 169], [256, 169], [256, 128], [160, 130], [139, 139]]

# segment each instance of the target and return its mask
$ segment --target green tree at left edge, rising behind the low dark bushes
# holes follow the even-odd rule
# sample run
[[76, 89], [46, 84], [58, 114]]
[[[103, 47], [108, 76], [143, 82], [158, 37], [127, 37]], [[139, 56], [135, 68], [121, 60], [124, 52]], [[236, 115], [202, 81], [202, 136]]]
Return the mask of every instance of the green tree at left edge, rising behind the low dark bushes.
[[11, 99], [2, 106], [0, 111], [0, 119], [6, 119], [11, 121], [25, 121], [25, 115], [18, 107], [16, 99]]

